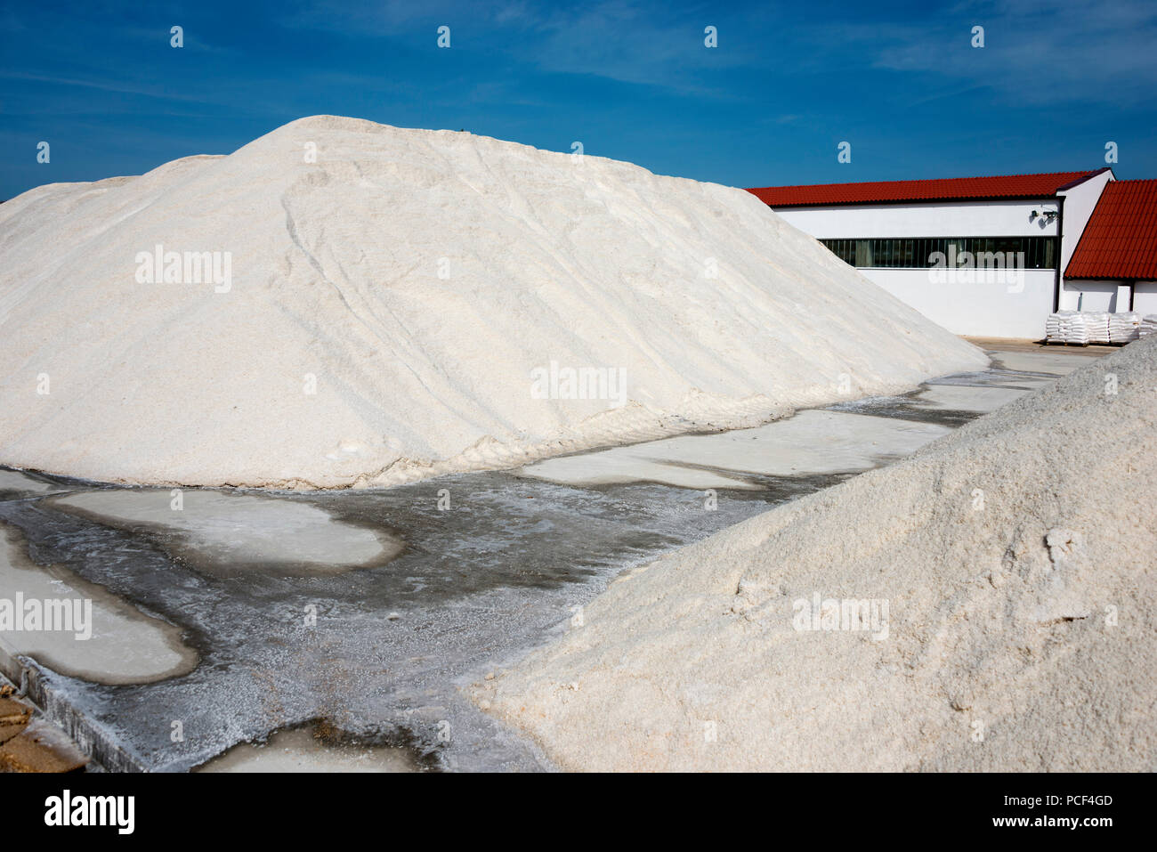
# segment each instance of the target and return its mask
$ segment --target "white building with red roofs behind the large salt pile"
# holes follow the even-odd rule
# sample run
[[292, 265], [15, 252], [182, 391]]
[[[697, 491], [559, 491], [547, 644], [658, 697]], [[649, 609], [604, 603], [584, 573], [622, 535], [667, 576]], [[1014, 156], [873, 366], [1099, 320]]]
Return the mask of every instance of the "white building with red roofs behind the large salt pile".
[[1039, 339], [1061, 309], [1157, 313], [1157, 181], [1105, 167], [747, 191], [959, 335]]

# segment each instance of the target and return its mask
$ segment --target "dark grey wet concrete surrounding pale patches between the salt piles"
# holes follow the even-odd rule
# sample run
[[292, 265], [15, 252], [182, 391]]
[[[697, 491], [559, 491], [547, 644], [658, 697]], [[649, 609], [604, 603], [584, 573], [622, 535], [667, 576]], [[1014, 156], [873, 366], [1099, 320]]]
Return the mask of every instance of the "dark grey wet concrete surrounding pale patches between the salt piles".
[[[937, 383], [1029, 392], [1056, 377], [997, 369]], [[937, 383], [831, 409], [946, 426], [979, 416], [923, 399]], [[59, 477], [34, 477], [49, 489], [21, 487], [21, 475], [9, 472], [0, 523], [21, 531], [31, 563], [66, 566], [176, 625], [199, 655], [189, 674], [147, 684], [39, 671], [115, 741], [126, 765], [184, 771], [237, 743], [320, 724], [403, 748], [418, 767], [543, 770], [550, 764], [532, 743], [479, 712], [459, 688], [561, 631], [622, 570], [856, 472], [749, 476], [745, 489], [720, 490], [715, 508], [699, 490], [575, 487], [511, 472], [382, 491], [231, 492], [311, 506], [400, 542], [389, 561], [344, 573], [294, 572], [286, 559], [218, 571], [206, 560], [228, 560], [226, 552], [189, 558], [187, 520], [185, 529], [128, 529], [91, 511], [65, 512], [53, 494], [126, 490]], [[171, 499], [170, 489], [128, 491]]]

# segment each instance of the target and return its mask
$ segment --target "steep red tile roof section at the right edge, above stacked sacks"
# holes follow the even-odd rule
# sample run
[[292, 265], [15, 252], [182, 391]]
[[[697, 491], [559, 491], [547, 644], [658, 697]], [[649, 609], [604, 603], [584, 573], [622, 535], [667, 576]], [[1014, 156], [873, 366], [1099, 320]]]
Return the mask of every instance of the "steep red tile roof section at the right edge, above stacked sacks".
[[1066, 278], [1157, 280], [1157, 181], [1110, 181]]

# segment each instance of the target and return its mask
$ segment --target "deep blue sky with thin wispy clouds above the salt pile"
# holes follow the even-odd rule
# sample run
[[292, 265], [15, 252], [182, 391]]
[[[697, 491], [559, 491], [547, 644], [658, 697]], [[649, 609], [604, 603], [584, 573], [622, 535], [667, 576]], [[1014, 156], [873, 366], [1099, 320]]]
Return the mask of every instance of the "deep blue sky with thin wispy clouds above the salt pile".
[[[982, 49], [971, 45], [978, 24]], [[316, 113], [554, 150], [578, 140], [588, 154], [738, 186], [1093, 169], [1107, 141], [1118, 177], [1157, 177], [1157, 3], [162, 0], [0, 12], [0, 198], [229, 153]], [[47, 164], [36, 161], [40, 140]], [[837, 162], [845, 140], [850, 163]]]

